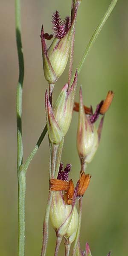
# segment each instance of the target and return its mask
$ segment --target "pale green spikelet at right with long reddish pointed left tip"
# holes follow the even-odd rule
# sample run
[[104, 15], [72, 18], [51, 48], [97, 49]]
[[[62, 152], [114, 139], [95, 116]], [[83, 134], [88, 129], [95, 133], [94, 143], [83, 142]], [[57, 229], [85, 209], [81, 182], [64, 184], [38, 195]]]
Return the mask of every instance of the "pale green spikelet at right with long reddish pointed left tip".
[[77, 150], [82, 161], [90, 163], [99, 145], [98, 133], [94, 124], [84, 112], [82, 90], [79, 93], [79, 123], [77, 130]]

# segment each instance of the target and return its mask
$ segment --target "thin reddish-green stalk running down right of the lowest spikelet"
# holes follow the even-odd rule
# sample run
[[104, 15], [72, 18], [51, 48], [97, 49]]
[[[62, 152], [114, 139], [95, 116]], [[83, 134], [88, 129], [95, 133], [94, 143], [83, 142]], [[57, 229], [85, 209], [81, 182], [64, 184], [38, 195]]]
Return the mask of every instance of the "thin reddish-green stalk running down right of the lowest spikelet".
[[82, 218], [82, 198], [79, 199], [79, 222], [78, 222], [78, 228], [77, 228], [76, 239], [75, 239], [75, 243], [74, 243], [74, 247], [73, 247], [72, 256], [75, 256], [77, 244], [79, 242], [79, 234], [80, 234], [80, 229], [81, 229], [81, 218]]

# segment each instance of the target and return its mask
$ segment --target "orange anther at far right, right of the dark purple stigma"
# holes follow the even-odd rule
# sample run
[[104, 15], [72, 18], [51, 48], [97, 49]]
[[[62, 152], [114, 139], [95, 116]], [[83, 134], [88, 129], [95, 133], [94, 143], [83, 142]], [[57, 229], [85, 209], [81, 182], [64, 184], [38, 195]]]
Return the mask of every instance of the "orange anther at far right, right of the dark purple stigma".
[[111, 102], [113, 100], [113, 97], [114, 97], [114, 93], [113, 91], [109, 91], [108, 94], [107, 94], [107, 97], [100, 109], [100, 114], [104, 115], [107, 111], [108, 111], [108, 108], [110, 107], [111, 105]]

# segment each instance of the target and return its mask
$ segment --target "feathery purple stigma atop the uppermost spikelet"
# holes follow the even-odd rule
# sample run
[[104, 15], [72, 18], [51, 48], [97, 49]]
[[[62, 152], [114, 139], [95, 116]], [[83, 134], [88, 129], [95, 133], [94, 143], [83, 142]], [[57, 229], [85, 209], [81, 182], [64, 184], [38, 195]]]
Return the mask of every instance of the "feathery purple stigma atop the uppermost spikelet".
[[62, 39], [70, 28], [70, 17], [67, 16], [63, 21], [61, 20], [59, 12], [55, 11], [52, 15], [52, 24], [54, 37]]

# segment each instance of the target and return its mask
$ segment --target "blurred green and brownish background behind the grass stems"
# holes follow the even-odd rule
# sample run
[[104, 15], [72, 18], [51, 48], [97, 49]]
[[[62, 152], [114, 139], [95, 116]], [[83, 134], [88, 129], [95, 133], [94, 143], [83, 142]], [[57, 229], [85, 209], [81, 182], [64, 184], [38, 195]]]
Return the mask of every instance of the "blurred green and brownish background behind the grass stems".
[[[15, 1], [0, 2], [0, 255], [17, 255], [17, 139], [16, 85], [18, 61], [15, 41]], [[45, 125], [44, 79], [41, 54], [41, 24], [51, 33], [51, 15], [56, 9], [62, 18], [70, 15], [70, 0], [22, 0], [22, 41], [25, 77], [23, 87], [24, 159], [32, 151]], [[78, 64], [95, 27], [110, 0], [82, 1], [76, 24], [75, 57]], [[67, 82], [68, 67], [58, 79], [54, 100]], [[102, 140], [87, 172], [92, 175], [84, 195], [81, 247], [88, 241], [92, 256], [128, 255], [128, 0], [118, 0], [89, 53], [78, 79], [84, 103], [96, 104], [108, 90], [115, 92], [105, 116]], [[78, 101], [78, 91], [76, 100]], [[79, 157], [76, 151], [78, 114], [73, 114], [65, 137], [62, 161], [72, 164], [70, 177], [76, 182]], [[48, 194], [49, 146], [45, 137], [26, 175], [26, 245], [25, 255], [41, 252], [42, 224]], [[55, 248], [55, 232], [50, 227], [47, 256]], [[61, 247], [60, 256], [64, 247]]]

